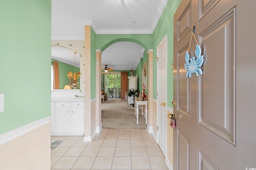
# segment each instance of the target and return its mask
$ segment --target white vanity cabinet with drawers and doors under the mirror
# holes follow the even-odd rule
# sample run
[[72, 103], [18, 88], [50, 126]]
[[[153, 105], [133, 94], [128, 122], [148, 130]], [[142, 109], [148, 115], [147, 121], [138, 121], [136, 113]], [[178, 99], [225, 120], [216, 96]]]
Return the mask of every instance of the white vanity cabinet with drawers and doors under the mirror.
[[84, 135], [84, 102], [52, 102], [51, 135]]

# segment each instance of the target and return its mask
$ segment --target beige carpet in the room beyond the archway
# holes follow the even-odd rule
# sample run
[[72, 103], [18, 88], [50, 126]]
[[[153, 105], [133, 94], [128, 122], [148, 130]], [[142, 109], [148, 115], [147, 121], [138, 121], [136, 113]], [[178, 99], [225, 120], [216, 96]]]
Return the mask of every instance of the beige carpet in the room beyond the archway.
[[139, 109], [139, 124], [136, 124], [134, 107], [124, 99], [108, 99], [101, 103], [102, 129], [146, 129], [144, 116]]

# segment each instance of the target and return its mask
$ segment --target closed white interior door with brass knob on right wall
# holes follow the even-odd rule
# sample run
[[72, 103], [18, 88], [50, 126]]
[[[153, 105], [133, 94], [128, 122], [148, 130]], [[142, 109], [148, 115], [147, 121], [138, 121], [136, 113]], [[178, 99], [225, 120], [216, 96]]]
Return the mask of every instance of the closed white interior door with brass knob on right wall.
[[[164, 156], [166, 155], [166, 51], [167, 36], [157, 47], [158, 56], [158, 145]], [[162, 105], [161, 105], [162, 104]]]

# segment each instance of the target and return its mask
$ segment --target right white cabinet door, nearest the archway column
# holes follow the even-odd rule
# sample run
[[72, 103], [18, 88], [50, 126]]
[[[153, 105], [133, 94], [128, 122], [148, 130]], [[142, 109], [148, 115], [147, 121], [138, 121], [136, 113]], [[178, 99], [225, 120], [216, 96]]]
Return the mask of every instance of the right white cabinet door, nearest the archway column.
[[84, 133], [84, 108], [72, 109], [72, 132], [78, 135], [78, 132]]

